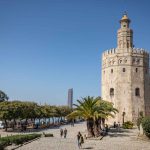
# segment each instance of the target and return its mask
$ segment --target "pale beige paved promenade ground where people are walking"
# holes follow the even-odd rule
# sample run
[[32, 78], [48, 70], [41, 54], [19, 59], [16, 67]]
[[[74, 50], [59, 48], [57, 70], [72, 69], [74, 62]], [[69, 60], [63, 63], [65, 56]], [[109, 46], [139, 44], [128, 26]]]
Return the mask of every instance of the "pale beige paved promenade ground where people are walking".
[[[78, 150], [76, 135], [78, 131], [84, 135], [86, 133], [86, 124], [75, 124], [61, 126], [68, 130], [67, 138], [60, 138], [59, 129], [48, 129], [45, 133], [53, 133], [54, 137], [42, 137], [19, 150]], [[92, 150], [150, 150], [150, 141], [144, 141], [137, 137], [138, 130], [122, 130], [121, 132], [110, 132], [108, 136], [100, 139], [87, 139], [82, 149]]]

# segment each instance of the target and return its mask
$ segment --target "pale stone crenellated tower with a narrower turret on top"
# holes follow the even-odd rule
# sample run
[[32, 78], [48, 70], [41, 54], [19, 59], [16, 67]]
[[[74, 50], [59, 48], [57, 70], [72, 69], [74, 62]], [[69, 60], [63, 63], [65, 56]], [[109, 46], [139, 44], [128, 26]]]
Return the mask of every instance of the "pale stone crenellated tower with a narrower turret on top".
[[110, 123], [136, 122], [140, 112], [150, 115], [149, 54], [134, 48], [130, 22], [124, 14], [117, 32], [117, 48], [102, 54], [102, 98], [119, 110]]

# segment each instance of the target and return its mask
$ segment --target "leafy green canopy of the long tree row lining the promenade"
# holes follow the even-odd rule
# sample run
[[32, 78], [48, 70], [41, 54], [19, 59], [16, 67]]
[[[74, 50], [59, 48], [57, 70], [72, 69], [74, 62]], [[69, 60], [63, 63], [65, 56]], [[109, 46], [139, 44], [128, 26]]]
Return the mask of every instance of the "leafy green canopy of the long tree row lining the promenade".
[[27, 122], [28, 119], [62, 118], [70, 112], [71, 109], [67, 106], [38, 105], [35, 102], [17, 100], [0, 103], [0, 120], [5, 122], [6, 130], [8, 121], [13, 121], [15, 125], [16, 120], [26, 120]]

